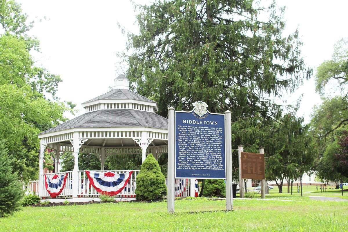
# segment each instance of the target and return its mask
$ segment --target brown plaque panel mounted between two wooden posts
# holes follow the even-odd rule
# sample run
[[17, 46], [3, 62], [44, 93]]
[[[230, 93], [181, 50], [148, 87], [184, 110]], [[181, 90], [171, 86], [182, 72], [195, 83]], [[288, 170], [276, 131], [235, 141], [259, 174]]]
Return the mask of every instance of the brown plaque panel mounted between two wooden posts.
[[242, 152], [242, 178], [264, 179], [264, 154]]

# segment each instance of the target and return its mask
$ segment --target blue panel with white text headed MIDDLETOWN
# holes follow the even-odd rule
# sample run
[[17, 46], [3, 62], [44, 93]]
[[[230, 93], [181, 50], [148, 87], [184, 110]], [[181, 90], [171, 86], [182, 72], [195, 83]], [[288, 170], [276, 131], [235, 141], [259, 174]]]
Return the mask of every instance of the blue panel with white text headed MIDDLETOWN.
[[175, 178], [226, 179], [224, 114], [175, 111]]

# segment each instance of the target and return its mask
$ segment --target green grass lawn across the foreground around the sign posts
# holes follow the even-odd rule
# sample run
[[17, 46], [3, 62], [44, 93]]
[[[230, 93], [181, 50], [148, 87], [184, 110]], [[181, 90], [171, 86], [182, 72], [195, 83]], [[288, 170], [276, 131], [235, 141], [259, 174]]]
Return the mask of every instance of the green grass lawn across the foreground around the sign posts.
[[[295, 198], [295, 197], [294, 197]], [[167, 202], [120, 202], [76, 206], [24, 207], [0, 218], [0, 231], [348, 231], [348, 202], [177, 200], [174, 215]]]

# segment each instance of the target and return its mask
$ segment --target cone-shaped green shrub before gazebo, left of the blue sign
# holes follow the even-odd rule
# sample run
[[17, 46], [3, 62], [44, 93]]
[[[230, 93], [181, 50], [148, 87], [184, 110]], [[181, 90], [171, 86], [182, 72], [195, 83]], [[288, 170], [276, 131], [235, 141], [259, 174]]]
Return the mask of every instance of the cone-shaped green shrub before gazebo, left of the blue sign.
[[149, 154], [142, 163], [135, 181], [137, 200], [158, 200], [167, 194], [165, 177], [152, 154]]

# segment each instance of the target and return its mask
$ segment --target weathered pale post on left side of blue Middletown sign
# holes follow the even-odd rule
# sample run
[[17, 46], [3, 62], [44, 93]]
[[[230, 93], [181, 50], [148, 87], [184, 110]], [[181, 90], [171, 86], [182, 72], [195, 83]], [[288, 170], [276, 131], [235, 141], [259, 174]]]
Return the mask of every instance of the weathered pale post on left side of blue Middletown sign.
[[168, 184], [167, 184], [167, 212], [174, 213], [174, 152], [175, 152], [175, 109], [168, 109]]

